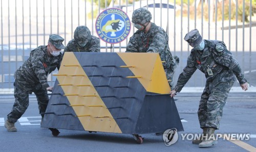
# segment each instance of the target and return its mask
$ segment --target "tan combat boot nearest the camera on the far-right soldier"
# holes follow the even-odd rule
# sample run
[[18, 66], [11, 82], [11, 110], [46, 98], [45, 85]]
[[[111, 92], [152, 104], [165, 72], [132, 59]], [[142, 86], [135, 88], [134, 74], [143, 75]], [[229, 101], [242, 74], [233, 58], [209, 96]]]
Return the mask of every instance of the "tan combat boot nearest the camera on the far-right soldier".
[[218, 143], [214, 135], [215, 128], [207, 127], [206, 128], [206, 137], [199, 144], [200, 148], [209, 147]]

